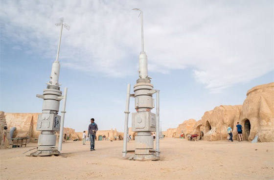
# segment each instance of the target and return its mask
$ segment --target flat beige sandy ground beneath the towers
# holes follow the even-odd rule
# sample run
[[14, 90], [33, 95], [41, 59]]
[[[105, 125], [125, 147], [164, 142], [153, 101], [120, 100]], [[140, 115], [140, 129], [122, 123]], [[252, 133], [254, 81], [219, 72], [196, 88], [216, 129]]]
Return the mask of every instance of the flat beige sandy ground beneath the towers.
[[[274, 143], [160, 140], [160, 161], [122, 157], [123, 141], [68, 141], [61, 156], [26, 157], [37, 144], [0, 150], [1, 180], [274, 180]], [[134, 141], [128, 143], [134, 150]]]

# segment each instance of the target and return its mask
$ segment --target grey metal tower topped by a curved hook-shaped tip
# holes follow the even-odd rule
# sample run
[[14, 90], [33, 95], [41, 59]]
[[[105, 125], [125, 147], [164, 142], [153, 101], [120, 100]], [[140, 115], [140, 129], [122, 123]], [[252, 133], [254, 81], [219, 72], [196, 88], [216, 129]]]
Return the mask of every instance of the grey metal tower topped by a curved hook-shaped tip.
[[[142, 51], [139, 55], [139, 79], [134, 85], [134, 94], [130, 94], [130, 85], [127, 90], [127, 103], [125, 115], [125, 134], [128, 126], [129, 97], [135, 97], [135, 109], [137, 112], [132, 113], [132, 131], [137, 132], [135, 136], [135, 156], [130, 159], [134, 160], [159, 160], [159, 90], [154, 90], [151, 77], [148, 76], [147, 55], [144, 51], [143, 38], [143, 12], [139, 9], [141, 15], [141, 42]], [[139, 15], [139, 16], [140, 16]], [[151, 110], [155, 107], [153, 94], [157, 92], [156, 114]], [[156, 132], [156, 149], [154, 149], [153, 136], [151, 132]], [[126, 139], [126, 138], [124, 138]], [[126, 142], [124, 141], [123, 157], [126, 157]]]

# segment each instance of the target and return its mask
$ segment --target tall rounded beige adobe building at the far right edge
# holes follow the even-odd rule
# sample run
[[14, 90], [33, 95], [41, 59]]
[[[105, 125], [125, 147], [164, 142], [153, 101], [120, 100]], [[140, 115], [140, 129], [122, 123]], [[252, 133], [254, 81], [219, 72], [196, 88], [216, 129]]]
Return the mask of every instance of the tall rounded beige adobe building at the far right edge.
[[[250, 121], [250, 135], [246, 133], [245, 122]], [[259, 85], [247, 92], [240, 124], [243, 136], [252, 140], [258, 135], [260, 142], [274, 142], [274, 83]]]

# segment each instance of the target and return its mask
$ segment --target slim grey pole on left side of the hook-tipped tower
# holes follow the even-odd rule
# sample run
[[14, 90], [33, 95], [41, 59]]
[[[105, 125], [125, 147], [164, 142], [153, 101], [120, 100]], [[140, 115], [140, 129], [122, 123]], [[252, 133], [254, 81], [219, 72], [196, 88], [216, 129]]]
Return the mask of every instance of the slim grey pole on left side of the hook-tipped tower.
[[129, 112], [129, 98], [130, 98], [130, 84], [128, 84], [127, 99], [126, 99], [123, 157], [126, 157], [126, 155], [127, 155], [128, 116], [130, 113]]

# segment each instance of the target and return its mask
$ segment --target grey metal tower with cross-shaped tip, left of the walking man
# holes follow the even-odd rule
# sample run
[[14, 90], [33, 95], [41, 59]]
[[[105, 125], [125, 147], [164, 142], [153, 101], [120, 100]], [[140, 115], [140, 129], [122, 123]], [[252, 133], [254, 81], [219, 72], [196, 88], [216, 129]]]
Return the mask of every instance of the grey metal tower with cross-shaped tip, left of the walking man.
[[[61, 37], [63, 26], [66, 29], [70, 29], [67, 24], [64, 24], [64, 18], [60, 18], [60, 22], [56, 23], [56, 26], [61, 26], [61, 32], [59, 37], [59, 44], [57, 49], [56, 60], [52, 64], [51, 75], [49, 76], [50, 80], [47, 84], [46, 90], [44, 90], [43, 95], [37, 94], [36, 96], [44, 99], [42, 114], [39, 114], [37, 120], [37, 131], [41, 131], [38, 139], [38, 149], [36, 152], [31, 153], [31, 156], [51, 156], [51, 155], [59, 155], [56, 145], [56, 131], [63, 130], [64, 125], [64, 116], [65, 116], [65, 107], [66, 107], [66, 99], [67, 97], [67, 88], [65, 88], [65, 94], [62, 96], [62, 91], [60, 90], [61, 84], [59, 84], [59, 74], [60, 74], [60, 63], [58, 61], [59, 51], [61, 45]], [[62, 119], [61, 116], [58, 115], [60, 101], [64, 99], [63, 111], [62, 111]], [[65, 107], [64, 107], [65, 105]], [[60, 134], [60, 138], [62, 139]], [[62, 144], [61, 144], [62, 145]], [[59, 144], [60, 146], [60, 144]]]

